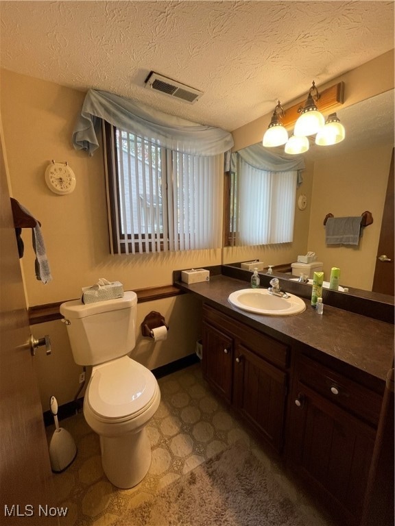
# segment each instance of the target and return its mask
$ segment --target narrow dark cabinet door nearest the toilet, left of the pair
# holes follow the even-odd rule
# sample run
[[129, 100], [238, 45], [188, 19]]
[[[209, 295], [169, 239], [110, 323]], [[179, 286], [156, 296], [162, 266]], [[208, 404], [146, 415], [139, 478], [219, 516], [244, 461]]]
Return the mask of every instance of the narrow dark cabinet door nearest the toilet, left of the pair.
[[233, 340], [219, 329], [203, 323], [204, 379], [229, 403], [232, 401]]

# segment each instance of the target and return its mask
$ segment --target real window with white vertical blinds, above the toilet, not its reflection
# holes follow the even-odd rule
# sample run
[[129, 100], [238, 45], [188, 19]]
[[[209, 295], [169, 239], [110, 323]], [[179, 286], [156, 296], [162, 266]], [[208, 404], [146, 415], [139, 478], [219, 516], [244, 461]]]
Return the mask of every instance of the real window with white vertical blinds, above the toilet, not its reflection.
[[223, 154], [188, 155], [104, 127], [112, 253], [219, 248]]

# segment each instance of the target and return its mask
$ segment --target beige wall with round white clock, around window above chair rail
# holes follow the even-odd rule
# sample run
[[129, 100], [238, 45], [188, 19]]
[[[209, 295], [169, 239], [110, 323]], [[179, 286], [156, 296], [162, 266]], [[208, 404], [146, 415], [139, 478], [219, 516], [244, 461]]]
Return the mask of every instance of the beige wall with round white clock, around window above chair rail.
[[[53, 281], [34, 275], [34, 252], [23, 233], [22, 260], [30, 305], [80, 296], [99, 277], [118, 279], [125, 290], [171, 284], [180, 268], [221, 263], [221, 250], [115, 255], [109, 253], [103, 151], [75, 151], [71, 134], [84, 93], [1, 71], [1, 114], [11, 195], [42, 223]], [[51, 160], [67, 161], [77, 177], [73, 193], [53, 194], [44, 179]]]

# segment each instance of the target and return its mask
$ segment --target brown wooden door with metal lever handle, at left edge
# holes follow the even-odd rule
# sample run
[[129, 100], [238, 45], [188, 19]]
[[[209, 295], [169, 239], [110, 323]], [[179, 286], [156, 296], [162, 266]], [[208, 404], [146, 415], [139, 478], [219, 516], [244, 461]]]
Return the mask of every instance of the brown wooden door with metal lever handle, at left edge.
[[0, 129], [0, 524], [58, 524]]

